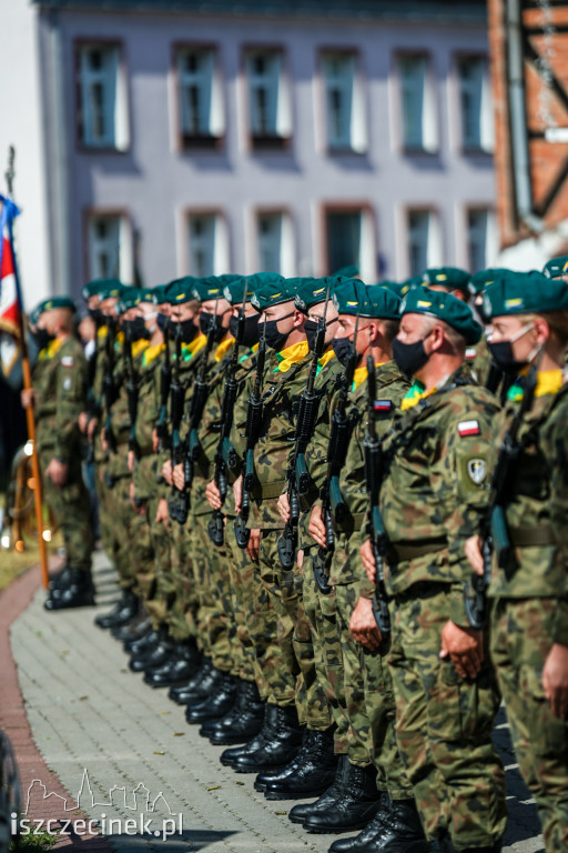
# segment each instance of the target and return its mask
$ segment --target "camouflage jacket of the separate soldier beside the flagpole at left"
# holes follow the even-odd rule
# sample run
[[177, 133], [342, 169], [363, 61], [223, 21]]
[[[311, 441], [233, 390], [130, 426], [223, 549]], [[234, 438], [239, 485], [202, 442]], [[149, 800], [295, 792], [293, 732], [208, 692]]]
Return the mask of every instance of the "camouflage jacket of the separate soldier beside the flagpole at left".
[[75, 338], [55, 339], [41, 350], [33, 368], [38, 450], [69, 462], [80, 454], [79, 415], [84, 411], [87, 361]]

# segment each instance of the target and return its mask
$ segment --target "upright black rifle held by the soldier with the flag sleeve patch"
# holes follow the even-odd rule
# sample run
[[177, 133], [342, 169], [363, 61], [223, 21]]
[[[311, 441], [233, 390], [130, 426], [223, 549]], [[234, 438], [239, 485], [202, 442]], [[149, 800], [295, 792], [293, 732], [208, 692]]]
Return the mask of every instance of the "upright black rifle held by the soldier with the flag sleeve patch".
[[363, 448], [365, 451], [365, 483], [368, 494], [368, 524], [371, 533], [371, 544], [375, 558], [376, 581], [375, 594], [373, 596], [373, 613], [381, 631], [382, 638], [390, 633], [390, 618], [386, 603], [386, 588], [384, 574], [384, 560], [388, 544], [381, 509], [378, 506], [378, 494], [384, 475], [383, 450], [375, 428], [375, 399], [376, 399], [376, 378], [375, 363], [373, 357], [367, 357], [367, 423], [365, 428], [365, 439]]

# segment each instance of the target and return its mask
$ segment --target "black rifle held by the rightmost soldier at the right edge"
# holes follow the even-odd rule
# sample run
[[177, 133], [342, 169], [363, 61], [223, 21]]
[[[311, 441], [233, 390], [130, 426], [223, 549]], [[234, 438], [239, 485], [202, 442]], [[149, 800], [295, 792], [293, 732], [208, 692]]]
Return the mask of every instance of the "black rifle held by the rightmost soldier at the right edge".
[[532, 407], [536, 384], [537, 369], [534, 365], [525, 378], [523, 401], [510, 422], [509, 429], [505, 433], [491, 476], [489, 501], [479, 534], [483, 542], [484, 573], [481, 575], [474, 573], [470, 584], [466, 583], [464, 588], [464, 603], [467, 618], [471, 628], [477, 631], [484, 628], [487, 620], [486, 592], [491, 582], [493, 553], [497, 554], [497, 565], [499, 569], [506, 569], [513, 551], [505, 506], [510, 494], [516, 462], [523, 450], [523, 442], [519, 441], [519, 431], [525, 415], [528, 414]]

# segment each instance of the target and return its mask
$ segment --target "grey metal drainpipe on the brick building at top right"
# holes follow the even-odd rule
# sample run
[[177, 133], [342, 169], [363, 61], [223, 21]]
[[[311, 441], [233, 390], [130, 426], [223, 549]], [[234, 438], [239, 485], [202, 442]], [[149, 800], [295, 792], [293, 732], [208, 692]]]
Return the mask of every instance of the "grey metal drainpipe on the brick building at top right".
[[527, 112], [523, 68], [520, 0], [507, 2], [507, 87], [509, 93], [513, 171], [519, 219], [532, 232], [540, 233], [545, 224], [532, 212], [532, 189], [528, 157]]

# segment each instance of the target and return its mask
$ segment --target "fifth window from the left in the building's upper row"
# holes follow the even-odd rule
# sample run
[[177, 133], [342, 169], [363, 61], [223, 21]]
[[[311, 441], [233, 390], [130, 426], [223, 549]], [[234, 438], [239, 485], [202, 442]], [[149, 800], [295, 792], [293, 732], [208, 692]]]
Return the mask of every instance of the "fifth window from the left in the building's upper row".
[[437, 111], [428, 60], [420, 54], [398, 58], [403, 144], [409, 150], [437, 150]]

